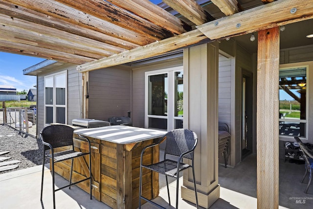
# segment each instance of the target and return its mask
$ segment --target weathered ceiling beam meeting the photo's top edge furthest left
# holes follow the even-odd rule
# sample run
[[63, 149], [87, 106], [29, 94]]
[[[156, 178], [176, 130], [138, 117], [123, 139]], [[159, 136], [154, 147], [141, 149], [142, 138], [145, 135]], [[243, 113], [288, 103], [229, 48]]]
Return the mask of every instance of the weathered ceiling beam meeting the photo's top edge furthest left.
[[68, 23], [73, 23], [96, 30], [98, 32], [129, 41], [140, 46], [150, 44], [156, 39], [148, 38], [142, 34], [135, 33], [134, 31], [127, 30], [112, 23], [103, 21], [92, 15], [86, 14], [77, 9], [71, 8], [65, 4], [59, 3], [54, 0], [4, 0], [16, 5], [23, 6], [28, 9], [35, 10], [48, 16], [64, 20]]

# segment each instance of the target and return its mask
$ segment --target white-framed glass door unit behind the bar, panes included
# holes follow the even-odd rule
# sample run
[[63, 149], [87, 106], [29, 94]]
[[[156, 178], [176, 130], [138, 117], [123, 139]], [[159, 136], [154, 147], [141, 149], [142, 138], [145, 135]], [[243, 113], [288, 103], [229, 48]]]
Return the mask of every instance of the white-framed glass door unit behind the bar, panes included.
[[183, 69], [145, 72], [145, 127], [173, 130], [183, 126]]

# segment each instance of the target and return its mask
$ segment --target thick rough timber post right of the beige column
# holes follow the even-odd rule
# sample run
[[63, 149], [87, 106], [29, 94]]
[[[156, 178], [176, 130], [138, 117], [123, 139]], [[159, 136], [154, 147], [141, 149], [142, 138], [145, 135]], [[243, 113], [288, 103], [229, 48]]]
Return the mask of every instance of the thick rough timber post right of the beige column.
[[278, 209], [279, 28], [258, 33], [257, 199], [258, 209]]

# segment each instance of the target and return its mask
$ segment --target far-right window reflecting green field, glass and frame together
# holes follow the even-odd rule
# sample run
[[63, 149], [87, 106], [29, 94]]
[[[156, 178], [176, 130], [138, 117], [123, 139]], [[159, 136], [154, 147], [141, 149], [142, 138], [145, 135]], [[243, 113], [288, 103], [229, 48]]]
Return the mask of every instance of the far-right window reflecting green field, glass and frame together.
[[279, 70], [279, 135], [308, 136], [308, 66]]

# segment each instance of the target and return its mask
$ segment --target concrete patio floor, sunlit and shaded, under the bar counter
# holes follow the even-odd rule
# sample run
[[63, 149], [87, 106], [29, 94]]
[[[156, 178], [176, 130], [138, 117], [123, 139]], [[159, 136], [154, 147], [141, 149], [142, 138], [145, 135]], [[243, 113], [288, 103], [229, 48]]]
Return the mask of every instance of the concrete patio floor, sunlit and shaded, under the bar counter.
[[[52, 207], [52, 178], [48, 168], [45, 169], [45, 185], [43, 206], [40, 202], [41, 168], [35, 166], [23, 170], [13, 171], [0, 175], [0, 209], [50, 209]], [[304, 164], [280, 162], [280, 208], [311, 209], [313, 204], [313, 186], [308, 194], [303, 193], [306, 184], [301, 184], [304, 174]], [[306, 181], [307, 182], [307, 181]], [[248, 156], [235, 168], [219, 165], [219, 183], [221, 195], [211, 209], [254, 209], [257, 208], [256, 199], [256, 156]], [[67, 184], [67, 181], [56, 175], [56, 186]], [[179, 181], [182, 185], [182, 179]], [[155, 201], [165, 208], [173, 209], [168, 205], [165, 178], [160, 176], [160, 194]], [[176, 182], [170, 184], [171, 203], [175, 206]], [[296, 199], [301, 202], [296, 203]], [[303, 202], [305, 199], [305, 202]], [[92, 199], [76, 186], [69, 190], [65, 188], [56, 192], [56, 208], [70, 209], [109, 209], [105, 204]], [[142, 209], [154, 209], [146, 203]], [[194, 204], [184, 201], [179, 194], [179, 208], [193, 209]]]

